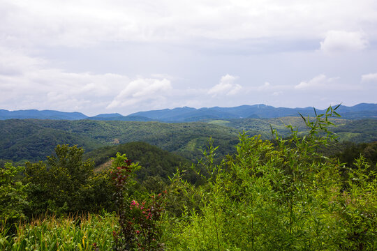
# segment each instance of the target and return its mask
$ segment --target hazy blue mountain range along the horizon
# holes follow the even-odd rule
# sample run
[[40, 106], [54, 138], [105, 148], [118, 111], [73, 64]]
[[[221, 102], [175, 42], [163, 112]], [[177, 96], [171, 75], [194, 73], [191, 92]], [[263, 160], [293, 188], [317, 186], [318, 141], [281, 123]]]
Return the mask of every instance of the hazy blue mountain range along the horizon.
[[[324, 112], [317, 109], [318, 113]], [[341, 105], [337, 112], [343, 119], [377, 118], [377, 104], [360, 103], [352, 107]], [[36, 109], [8, 111], [0, 109], [0, 119], [61, 119], [61, 120], [99, 120], [99, 121], [163, 121], [191, 122], [207, 119], [244, 119], [244, 118], [278, 118], [283, 116], [313, 116], [313, 107], [287, 108], [269, 105], [242, 105], [238, 107], [177, 107], [174, 109], [136, 112], [123, 116], [119, 113], [87, 116], [80, 112], [59, 112], [53, 110], [38, 111]]]

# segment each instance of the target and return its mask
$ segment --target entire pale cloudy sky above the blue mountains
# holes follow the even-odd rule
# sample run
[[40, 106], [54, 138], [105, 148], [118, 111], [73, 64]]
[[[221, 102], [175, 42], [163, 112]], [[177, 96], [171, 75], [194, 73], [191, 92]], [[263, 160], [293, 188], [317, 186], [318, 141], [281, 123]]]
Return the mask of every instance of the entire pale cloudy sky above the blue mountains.
[[376, 0], [0, 0], [0, 109], [377, 102]]

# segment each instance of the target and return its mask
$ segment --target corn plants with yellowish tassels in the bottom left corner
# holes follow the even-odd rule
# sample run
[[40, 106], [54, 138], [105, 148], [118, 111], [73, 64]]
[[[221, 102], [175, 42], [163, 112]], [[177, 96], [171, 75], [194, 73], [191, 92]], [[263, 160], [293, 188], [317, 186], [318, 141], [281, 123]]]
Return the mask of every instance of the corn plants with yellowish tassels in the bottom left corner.
[[0, 250], [111, 250], [113, 214], [47, 216], [17, 225], [15, 236], [0, 233]]

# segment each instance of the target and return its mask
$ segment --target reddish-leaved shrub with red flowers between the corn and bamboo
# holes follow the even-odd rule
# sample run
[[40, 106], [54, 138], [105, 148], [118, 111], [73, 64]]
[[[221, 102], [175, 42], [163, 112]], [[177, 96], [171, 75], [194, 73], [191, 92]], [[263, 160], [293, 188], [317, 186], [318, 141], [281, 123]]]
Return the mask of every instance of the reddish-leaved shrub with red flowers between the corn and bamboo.
[[126, 155], [117, 153], [112, 162], [112, 179], [117, 190], [114, 199], [118, 207], [119, 229], [113, 232], [115, 250], [163, 250], [158, 242], [159, 221], [163, 213], [161, 194], [151, 196], [151, 201], [138, 203], [131, 200], [128, 189], [138, 164], [131, 163]]

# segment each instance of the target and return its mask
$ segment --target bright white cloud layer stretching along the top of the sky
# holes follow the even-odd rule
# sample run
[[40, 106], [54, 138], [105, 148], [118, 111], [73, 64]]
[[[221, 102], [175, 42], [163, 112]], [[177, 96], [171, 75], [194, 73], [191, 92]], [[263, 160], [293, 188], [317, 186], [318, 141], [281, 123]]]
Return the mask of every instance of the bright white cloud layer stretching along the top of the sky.
[[102, 41], [202, 38], [318, 39], [329, 30], [363, 30], [376, 38], [376, 1], [3, 0], [4, 43], [87, 46]]

